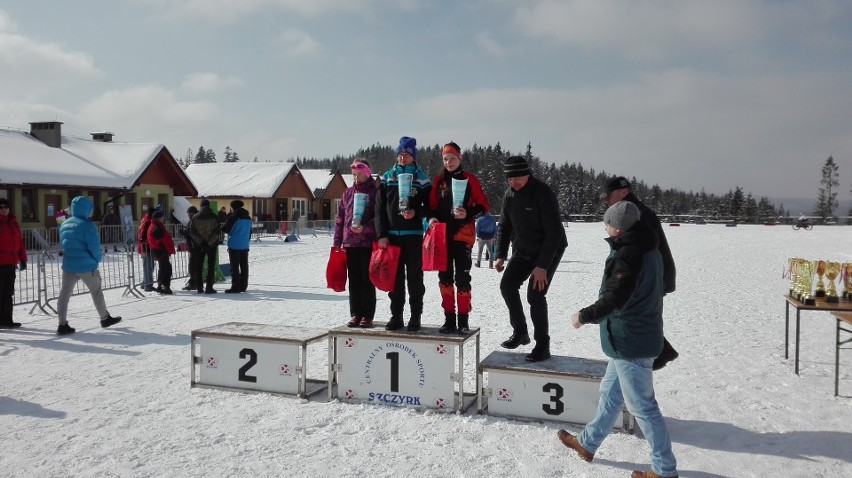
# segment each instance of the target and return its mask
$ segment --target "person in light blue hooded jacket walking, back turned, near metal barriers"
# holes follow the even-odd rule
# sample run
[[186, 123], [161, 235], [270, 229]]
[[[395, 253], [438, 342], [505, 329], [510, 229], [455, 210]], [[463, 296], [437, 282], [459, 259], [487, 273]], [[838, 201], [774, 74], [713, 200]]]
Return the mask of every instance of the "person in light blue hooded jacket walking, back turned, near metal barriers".
[[66, 219], [59, 228], [59, 241], [62, 243], [62, 286], [59, 289], [59, 299], [56, 310], [59, 315], [58, 335], [73, 334], [75, 329], [68, 324], [68, 301], [77, 281], [82, 280], [101, 319], [101, 327], [107, 328], [121, 321], [121, 317], [109, 314], [101, 289], [101, 274], [98, 263], [101, 262], [101, 239], [98, 228], [89, 219], [94, 206], [92, 201], [83, 196], [77, 196], [71, 201], [71, 217]]

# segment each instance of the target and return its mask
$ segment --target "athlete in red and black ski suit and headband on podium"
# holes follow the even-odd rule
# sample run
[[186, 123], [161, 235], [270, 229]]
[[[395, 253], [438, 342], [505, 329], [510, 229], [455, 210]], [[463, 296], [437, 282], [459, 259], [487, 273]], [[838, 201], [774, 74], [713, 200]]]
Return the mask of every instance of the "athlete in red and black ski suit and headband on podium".
[[[470, 332], [470, 253], [476, 240], [474, 220], [488, 214], [490, 206], [476, 176], [462, 170], [459, 145], [451, 141], [444, 145], [441, 154], [444, 170], [432, 180], [429, 192], [429, 227], [436, 222], [447, 225], [447, 267], [438, 272], [441, 308], [444, 309], [444, 325], [439, 332], [449, 334], [458, 331], [464, 335]], [[463, 194], [454, 203], [453, 188], [457, 186], [453, 186], [453, 182], [460, 184], [459, 181], [467, 183], [463, 189], [457, 188], [456, 192], [461, 190]]]

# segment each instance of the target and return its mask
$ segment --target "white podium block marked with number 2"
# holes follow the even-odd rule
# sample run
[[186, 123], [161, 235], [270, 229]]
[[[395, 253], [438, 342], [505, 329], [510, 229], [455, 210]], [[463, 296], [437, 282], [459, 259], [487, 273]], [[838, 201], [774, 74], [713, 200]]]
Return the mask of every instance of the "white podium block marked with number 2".
[[192, 331], [190, 387], [269, 392], [306, 398], [325, 388], [310, 380], [308, 344], [326, 330], [228, 322]]

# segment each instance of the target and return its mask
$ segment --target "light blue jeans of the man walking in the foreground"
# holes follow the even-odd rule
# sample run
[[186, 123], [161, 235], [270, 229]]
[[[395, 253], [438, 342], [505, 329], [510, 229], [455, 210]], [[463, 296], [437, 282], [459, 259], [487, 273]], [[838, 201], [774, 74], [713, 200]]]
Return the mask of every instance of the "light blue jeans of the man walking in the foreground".
[[609, 359], [601, 380], [601, 398], [595, 418], [577, 437], [587, 451], [596, 452], [609, 435], [624, 404], [651, 445], [651, 470], [660, 476], [677, 475], [669, 430], [654, 397], [653, 358]]

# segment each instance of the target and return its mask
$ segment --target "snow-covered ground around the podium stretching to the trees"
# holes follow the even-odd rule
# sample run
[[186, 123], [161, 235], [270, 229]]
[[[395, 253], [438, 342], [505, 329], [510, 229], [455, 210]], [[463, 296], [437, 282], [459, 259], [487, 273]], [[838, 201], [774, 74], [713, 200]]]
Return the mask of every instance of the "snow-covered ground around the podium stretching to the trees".
[[[852, 262], [849, 227], [666, 227], [678, 289], [666, 336], [680, 358], [655, 374], [680, 476], [852, 476], [852, 352], [833, 396], [834, 320], [804, 312], [801, 375], [784, 359], [788, 257]], [[548, 295], [552, 352], [603, 359], [595, 326], [569, 316], [597, 294], [603, 226], [572, 224]], [[591, 464], [556, 438], [564, 425], [466, 413], [190, 388], [190, 333], [230, 321], [329, 329], [348, 320], [346, 293], [325, 288], [331, 238], [252, 243], [248, 294], [144, 299], [108, 291], [124, 321], [101, 329], [88, 296], [71, 299], [77, 333], [15, 310], [0, 331], [0, 469], [8, 477], [517, 476], [622, 477], [648, 468], [641, 437], [615, 433]], [[500, 275], [474, 269], [471, 325], [483, 357], [510, 334]], [[173, 284], [176, 291], [182, 281]], [[217, 288], [223, 291], [226, 284]], [[426, 273], [424, 322], [442, 314]], [[380, 294], [377, 321], [388, 318]], [[406, 310], [406, 314], [407, 314]], [[407, 319], [407, 315], [406, 315]], [[519, 349], [528, 352], [529, 346]], [[325, 344], [309, 348], [325, 376]], [[466, 370], [473, 389], [475, 369]], [[570, 428], [574, 433], [577, 428]]]

